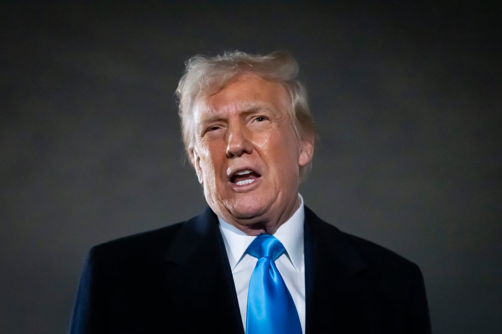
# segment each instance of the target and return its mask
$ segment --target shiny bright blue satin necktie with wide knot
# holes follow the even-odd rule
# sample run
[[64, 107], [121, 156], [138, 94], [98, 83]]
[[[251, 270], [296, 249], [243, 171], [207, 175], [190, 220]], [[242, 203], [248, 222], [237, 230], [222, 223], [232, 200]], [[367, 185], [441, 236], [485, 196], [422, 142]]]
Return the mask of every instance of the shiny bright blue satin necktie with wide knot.
[[247, 247], [258, 262], [249, 280], [246, 334], [302, 334], [295, 303], [274, 262], [285, 251], [270, 234], [257, 236]]

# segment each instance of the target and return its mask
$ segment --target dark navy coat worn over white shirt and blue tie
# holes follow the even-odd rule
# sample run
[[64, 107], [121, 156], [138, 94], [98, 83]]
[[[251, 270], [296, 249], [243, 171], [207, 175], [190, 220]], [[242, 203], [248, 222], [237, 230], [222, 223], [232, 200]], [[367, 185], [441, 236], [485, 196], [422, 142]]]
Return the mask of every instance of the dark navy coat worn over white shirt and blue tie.
[[[429, 333], [420, 269], [340, 232], [305, 207], [307, 333]], [[70, 333], [242, 333], [218, 220], [188, 221], [93, 247]]]

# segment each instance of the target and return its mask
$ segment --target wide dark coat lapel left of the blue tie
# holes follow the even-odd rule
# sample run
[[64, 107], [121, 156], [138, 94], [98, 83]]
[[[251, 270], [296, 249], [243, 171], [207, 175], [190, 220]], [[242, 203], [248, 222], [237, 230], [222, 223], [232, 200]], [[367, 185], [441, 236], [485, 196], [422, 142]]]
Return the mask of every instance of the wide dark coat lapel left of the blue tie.
[[181, 227], [165, 254], [165, 289], [180, 331], [242, 333], [237, 295], [216, 215], [207, 208]]

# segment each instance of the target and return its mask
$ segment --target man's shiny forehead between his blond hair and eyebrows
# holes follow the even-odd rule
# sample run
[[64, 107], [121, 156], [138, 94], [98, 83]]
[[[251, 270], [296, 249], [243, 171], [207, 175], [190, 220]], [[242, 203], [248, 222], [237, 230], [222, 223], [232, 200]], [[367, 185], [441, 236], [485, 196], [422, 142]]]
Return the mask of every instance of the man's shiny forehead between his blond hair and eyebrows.
[[288, 97], [283, 85], [252, 73], [239, 74], [216, 92], [196, 99], [196, 120], [205, 113], [243, 112], [267, 108], [287, 111]]

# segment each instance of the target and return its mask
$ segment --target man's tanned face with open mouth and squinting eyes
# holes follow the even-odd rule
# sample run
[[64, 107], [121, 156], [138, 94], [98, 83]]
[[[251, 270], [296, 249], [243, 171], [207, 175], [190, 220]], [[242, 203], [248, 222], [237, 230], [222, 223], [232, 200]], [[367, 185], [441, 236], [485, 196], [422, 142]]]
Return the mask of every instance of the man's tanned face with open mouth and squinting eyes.
[[250, 235], [274, 233], [298, 208], [313, 140], [297, 137], [289, 106], [280, 84], [248, 73], [195, 103], [191, 159], [207, 203]]

